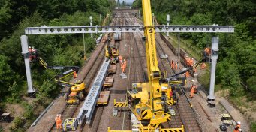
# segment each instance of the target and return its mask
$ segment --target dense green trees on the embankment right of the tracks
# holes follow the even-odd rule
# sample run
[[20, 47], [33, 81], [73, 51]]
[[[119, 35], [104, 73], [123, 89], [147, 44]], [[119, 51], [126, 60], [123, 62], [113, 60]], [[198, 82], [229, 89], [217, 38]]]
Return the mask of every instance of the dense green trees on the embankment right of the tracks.
[[[174, 25], [233, 25], [234, 34], [182, 33], [185, 39], [193, 40], [194, 46], [203, 49], [211, 43], [212, 36], [220, 39], [216, 83], [230, 89], [230, 95], [241, 95], [242, 86], [248, 86], [249, 92], [256, 93], [256, 3], [252, 0], [234, 1], [185, 1], [152, 0], [152, 12], [158, 23], [166, 24], [166, 15], [170, 14], [170, 23]], [[141, 0], [133, 7], [141, 8]]]

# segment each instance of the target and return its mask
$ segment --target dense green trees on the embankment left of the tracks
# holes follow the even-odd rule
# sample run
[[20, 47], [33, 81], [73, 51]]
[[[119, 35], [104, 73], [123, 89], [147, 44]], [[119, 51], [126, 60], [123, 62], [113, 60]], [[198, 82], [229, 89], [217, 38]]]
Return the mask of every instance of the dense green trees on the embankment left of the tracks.
[[[26, 94], [26, 72], [21, 55], [20, 36], [24, 28], [33, 26], [88, 26], [89, 16], [93, 25], [99, 25], [99, 14], [111, 13], [114, 0], [62, 0], [62, 1], [0, 1], [0, 96], [3, 101], [20, 101]], [[95, 40], [85, 34], [86, 54], [95, 48]], [[38, 55], [48, 65], [83, 64], [82, 34], [44, 34], [29, 35], [29, 46], [38, 49]], [[26, 109], [21, 117], [15, 117], [11, 131], [26, 131], [35, 120], [37, 105], [46, 107], [59, 94], [54, 77], [63, 72], [45, 70], [38, 62], [31, 63], [33, 87], [38, 89], [32, 104], [22, 103]], [[38, 113], [36, 113], [38, 114]], [[1, 131], [1, 129], [0, 129]]]

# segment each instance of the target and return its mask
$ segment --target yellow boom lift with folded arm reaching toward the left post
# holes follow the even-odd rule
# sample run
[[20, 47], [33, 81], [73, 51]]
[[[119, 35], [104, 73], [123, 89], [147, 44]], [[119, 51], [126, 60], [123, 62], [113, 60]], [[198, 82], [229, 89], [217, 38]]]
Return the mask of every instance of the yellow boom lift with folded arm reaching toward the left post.
[[70, 89], [68, 89], [68, 94], [66, 95], [66, 101], [68, 104], [80, 104], [80, 101], [83, 101], [86, 94], [85, 83], [80, 83], [79, 81], [77, 83], [70, 83], [64, 80], [65, 77], [77, 74], [79, 70], [78, 66], [49, 66], [41, 57], [38, 57], [38, 61], [46, 69], [68, 69], [68, 71], [56, 75], [55, 82], [60, 86], [70, 87]]

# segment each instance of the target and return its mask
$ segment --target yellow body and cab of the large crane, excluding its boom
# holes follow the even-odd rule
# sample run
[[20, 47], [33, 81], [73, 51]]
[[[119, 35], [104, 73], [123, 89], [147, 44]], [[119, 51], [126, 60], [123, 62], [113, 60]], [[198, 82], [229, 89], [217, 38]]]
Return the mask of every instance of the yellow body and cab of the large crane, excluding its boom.
[[127, 93], [128, 107], [143, 126], [160, 124], [170, 119], [170, 115], [164, 113], [164, 108], [169, 102], [170, 105], [175, 103], [173, 96], [170, 96], [172, 89], [168, 82], [161, 83], [160, 86], [162, 89], [161, 101], [154, 102], [155, 109], [159, 109], [158, 111], [153, 111], [149, 105], [149, 83], [133, 83], [132, 89]]

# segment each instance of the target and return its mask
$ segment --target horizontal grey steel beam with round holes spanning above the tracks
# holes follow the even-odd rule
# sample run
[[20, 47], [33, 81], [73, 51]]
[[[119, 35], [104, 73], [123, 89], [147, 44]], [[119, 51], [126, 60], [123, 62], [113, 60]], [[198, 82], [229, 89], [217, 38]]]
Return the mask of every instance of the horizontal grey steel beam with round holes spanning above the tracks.
[[[233, 26], [154, 26], [155, 32], [232, 33]], [[42, 26], [25, 28], [25, 34], [84, 34], [143, 32], [144, 26]]]

